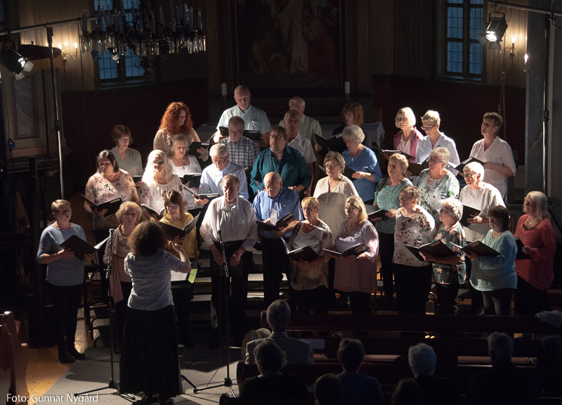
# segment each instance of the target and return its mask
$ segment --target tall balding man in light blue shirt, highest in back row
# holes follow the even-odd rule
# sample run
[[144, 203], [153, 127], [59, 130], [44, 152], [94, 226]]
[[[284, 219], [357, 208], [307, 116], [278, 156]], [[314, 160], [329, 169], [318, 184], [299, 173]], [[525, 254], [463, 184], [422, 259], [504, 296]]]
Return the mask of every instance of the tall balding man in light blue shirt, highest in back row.
[[260, 110], [250, 104], [251, 94], [247, 86], [237, 86], [237, 88], [234, 89], [234, 99], [236, 101], [236, 105], [224, 110], [223, 115], [221, 115], [221, 119], [218, 120], [214, 141], [218, 142], [221, 139], [221, 132], [218, 130], [218, 127], [228, 126], [228, 120], [237, 115], [238, 117], [242, 117], [242, 120], [244, 120], [244, 129], [259, 131], [261, 139], [266, 141], [264, 145], [268, 145], [271, 124], [268, 120], [268, 116], [263, 110]]

